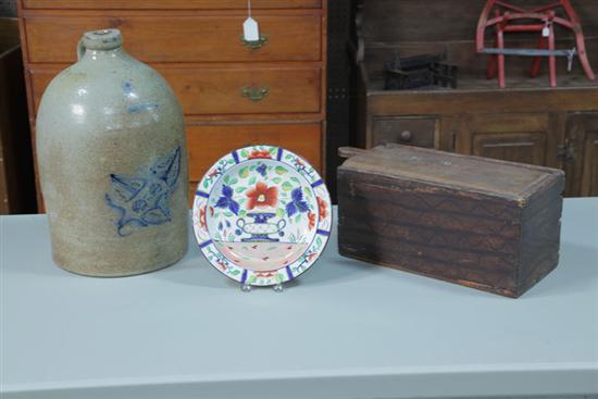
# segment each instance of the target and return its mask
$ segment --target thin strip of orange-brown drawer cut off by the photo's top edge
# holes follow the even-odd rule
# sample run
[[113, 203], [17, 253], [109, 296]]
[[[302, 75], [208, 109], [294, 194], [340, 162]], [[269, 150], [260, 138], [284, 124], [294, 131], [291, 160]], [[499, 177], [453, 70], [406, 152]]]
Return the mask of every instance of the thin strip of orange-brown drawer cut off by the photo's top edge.
[[[247, 0], [23, 0], [25, 9], [68, 10], [228, 10], [247, 8]], [[252, 9], [317, 9], [321, 0], [252, 0]]]

